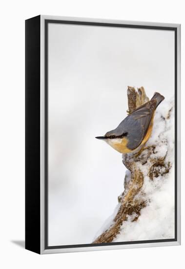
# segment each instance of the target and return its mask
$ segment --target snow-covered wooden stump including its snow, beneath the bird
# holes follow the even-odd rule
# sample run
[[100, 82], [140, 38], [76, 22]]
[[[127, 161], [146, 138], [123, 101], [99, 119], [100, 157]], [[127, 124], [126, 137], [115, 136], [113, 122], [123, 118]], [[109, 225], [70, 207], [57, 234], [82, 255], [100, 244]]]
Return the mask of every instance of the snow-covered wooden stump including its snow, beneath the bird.
[[[144, 88], [128, 87], [128, 113], [149, 99]], [[128, 169], [124, 191], [108, 223], [93, 243], [174, 237], [174, 98], [164, 99], [154, 116], [152, 135], [141, 155], [123, 155]]]

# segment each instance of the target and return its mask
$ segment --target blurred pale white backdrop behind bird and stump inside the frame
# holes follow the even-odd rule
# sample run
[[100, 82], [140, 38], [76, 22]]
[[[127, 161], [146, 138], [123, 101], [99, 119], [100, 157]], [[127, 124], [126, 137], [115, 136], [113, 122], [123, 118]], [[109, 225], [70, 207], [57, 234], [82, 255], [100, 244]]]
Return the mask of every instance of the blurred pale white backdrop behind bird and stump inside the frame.
[[127, 85], [174, 96], [174, 31], [48, 29], [48, 244], [89, 244], [113, 214], [126, 171], [95, 136], [126, 117]]

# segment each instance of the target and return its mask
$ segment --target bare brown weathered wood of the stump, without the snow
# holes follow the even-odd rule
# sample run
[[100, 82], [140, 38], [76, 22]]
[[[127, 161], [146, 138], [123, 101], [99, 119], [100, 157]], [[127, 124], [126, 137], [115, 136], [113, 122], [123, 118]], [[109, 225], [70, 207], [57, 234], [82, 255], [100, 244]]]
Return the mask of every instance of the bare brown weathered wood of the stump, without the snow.
[[[138, 91], [133, 87], [128, 87], [128, 113], [143, 105], [149, 100], [143, 87]], [[172, 108], [171, 108], [172, 109]], [[171, 110], [170, 109], [170, 110]], [[170, 118], [170, 110], [166, 118], [160, 120], [167, 121]], [[155, 128], [155, 118], [154, 127]], [[149, 139], [150, 140], [150, 139]], [[158, 139], [159, 144], [168, 146], [168, 141], [163, 137]], [[158, 154], [158, 147], [155, 143], [147, 143], [147, 148], [140, 156], [134, 157], [134, 154], [123, 155], [123, 164], [128, 169], [124, 178], [124, 191], [118, 197], [119, 209], [109, 228], [94, 240], [93, 243], [110, 243], [120, 233], [121, 226], [127, 221], [128, 217], [132, 222], [137, 222], [141, 215], [141, 210], [150, 202], [144, 192], [143, 185], [145, 177], [149, 180], [163, 176], [168, 173], [171, 163], [166, 159], [167, 153]], [[159, 145], [158, 145], [159, 146]]]

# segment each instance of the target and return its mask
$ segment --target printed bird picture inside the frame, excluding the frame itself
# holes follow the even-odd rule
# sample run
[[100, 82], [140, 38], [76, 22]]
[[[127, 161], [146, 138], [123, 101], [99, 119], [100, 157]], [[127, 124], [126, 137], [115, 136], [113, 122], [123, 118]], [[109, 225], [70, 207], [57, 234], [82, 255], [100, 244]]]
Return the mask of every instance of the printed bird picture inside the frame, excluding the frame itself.
[[174, 31], [47, 35], [48, 246], [174, 240]]

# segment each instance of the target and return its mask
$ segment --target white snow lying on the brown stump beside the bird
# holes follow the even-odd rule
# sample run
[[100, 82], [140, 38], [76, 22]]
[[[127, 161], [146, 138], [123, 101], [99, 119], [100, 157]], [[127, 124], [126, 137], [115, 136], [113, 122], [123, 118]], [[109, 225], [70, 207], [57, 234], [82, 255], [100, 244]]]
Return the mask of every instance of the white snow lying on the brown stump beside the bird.
[[[168, 118], [169, 111], [170, 117]], [[150, 161], [148, 160], [145, 164], [137, 162], [137, 166], [144, 175], [144, 184], [141, 192], [137, 195], [137, 199], [140, 198], [138, 196], [144, 195], [147, 205], [141, 209], [141, 215], [137, 221], [132, 222], [134, 214], [128, 216], [113, 242], [174, 238], [174, 138], [174, 98], [172, 98], [169, 101], [164, 100], [157, 108], [152, 135], [145, 145], [156, 145], [154, 153], [150, 157], [165, 157], [165, 163], [170, 163], [169, 173], [157, 178], [154, 177], [151, 180], [148, 177]], [[163, 170], [162, 167], [161, 172]], [[129, 179], [129, 171], [126, 173]], [[114, 223], [113, 219], [119, 207], [120, 204], [97, 236]]]

